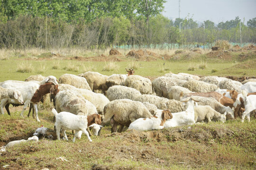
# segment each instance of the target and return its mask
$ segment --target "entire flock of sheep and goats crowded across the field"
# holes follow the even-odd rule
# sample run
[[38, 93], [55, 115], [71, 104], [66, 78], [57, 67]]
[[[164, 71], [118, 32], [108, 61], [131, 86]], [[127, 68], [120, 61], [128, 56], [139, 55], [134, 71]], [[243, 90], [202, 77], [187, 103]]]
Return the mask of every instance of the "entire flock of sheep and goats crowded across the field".
[[[143, 76], [101, 75], [85, 72], [78, 76], [30, 76], [25, 81], [7, 80], [0, 83], [0, 113], [9, 104], [24, 104], [23, 112], [30, 103], [37, 114], [37, 104], [54, 102], [57, 138], [62, 131], [75, 130], [75, 138], [85, 133], [91, 142], [101, 128], [111, 124], [111, 132], [121, 132], [123, 127], [136, 130], [162, 129], [192, 125], [212, 120], [225, 122], [241, 116], [250, 121], [250, 112], [256, 109], [256, 79], [242, 83], [225, 77], [194, 76], [186, 73], [168, 73], [152, 82]], [[101, 93], [95, 93], [95, 92]], [[44, 97], [47, 93], [47, 97]], [[31, 107], [32, 108], [32, 107]], [[33, 111], [34, 116], [34, 111]], [[101, 122], [102, 121], [102, 122]], [[102, 125], [102, 126], [101, 126]], [[119, 129], [117, 129], [117, 127]]]

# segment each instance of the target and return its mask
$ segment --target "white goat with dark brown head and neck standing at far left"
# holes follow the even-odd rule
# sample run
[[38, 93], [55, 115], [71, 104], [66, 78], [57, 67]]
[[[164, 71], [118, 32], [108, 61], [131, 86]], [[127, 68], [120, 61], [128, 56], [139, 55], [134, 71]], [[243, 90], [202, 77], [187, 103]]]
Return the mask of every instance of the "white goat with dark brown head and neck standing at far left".
[[[44, 85], [39, 85], [38, 83], [34, 83], [34, 82], [17, 83], [17, 82], [7, 81], [7, 82], [4, 82], [1, 86], [4, 88], [19, 90], [22, 94], [23, 101], [24, 101], [24, 107], [20, 113], [20, 116], [23, 117], [23, 112], [27, 108], [28, 103], [32, 103], [34, 106], [34, 109], [36, 110], [36, 119], [38, 122], [40, 122], [40, 120], [38, 119], [37, 103], [40, 101], [42, 95], [45, 95], [46, 93], [53, 93], [56, 95], [56, 93], [58, 93], [58, 85], [55, 85], [55, 83], [52, 83], [52, 82], [45, 83]], [[6, 99], [3, 99], [1, 101], [0, 107], [1, 107], [2, 114], [3, 114], [2, 108], [5, 105], [9, 104], [10, 102], [11, 101]], [[6, 109], [9, 110], [8, 108]]]

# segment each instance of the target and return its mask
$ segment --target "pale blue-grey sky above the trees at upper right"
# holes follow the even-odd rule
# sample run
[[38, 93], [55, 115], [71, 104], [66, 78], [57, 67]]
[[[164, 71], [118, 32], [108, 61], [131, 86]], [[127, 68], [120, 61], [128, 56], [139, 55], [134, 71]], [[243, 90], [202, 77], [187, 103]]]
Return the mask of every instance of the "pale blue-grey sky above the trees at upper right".
[[[164, 12], [169, 19], [179, 17], [179, 0], [166, 0]], [[180, 17], [192, 18], [203, 22], [210, 20], [215, 24], [235, 19], [237, 16], [245, 24], [249, 19], [256, 17], [256, 0], [181, 0]]]

